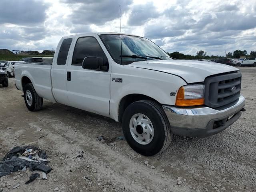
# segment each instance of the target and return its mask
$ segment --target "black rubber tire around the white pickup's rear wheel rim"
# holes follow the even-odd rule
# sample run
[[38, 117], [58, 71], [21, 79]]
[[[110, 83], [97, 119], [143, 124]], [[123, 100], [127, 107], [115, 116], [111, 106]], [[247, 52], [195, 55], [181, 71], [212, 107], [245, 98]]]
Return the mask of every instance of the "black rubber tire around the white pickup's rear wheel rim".
[[[31, 105], [28, 104], [27, 99], [26, 99], [26, 91], [27, 90], [29, 90], [32, 94], [32, 104]], [[32, 83], [28, 83], [24, 87], [24, 100], [25, 100], [25, 104], [26, 104], [28, 110], [30, 110], [30, 111], [39, 111], [42, 109], [43, 98], [38, 96]]]

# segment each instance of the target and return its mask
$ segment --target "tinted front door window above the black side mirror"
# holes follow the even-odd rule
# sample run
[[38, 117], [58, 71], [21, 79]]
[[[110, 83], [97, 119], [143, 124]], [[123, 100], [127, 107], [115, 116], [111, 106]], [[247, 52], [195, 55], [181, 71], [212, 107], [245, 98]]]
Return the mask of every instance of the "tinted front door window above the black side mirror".
[[82, 65], [84, 58], [92, 56], [92, 57], [100, 57], [106, 62], [107, 57], [103, 52], [100, 44], [94, 37], [81, 37], [78, 38], [76, 42], [76, 46], [74, 49], [72, 65]]

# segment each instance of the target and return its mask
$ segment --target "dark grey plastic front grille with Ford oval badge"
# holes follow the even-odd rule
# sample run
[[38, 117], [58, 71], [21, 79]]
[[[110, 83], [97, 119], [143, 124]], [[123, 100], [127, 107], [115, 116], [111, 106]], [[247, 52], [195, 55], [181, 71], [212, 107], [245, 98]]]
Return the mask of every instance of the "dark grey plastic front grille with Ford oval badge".
[[205, 105], [218, 108], [237, 100], [241, 90], [241, 72], [207, 77], [205, 84]]

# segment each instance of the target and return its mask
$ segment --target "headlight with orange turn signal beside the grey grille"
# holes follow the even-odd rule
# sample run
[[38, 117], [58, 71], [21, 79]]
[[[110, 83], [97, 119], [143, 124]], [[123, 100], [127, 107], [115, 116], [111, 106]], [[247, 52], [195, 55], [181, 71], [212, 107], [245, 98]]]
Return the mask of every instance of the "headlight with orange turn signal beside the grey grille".
[[186, 85], [180, 87], [176, 96], [177, 106], [194, 106], [204, 104], [204, 85]]

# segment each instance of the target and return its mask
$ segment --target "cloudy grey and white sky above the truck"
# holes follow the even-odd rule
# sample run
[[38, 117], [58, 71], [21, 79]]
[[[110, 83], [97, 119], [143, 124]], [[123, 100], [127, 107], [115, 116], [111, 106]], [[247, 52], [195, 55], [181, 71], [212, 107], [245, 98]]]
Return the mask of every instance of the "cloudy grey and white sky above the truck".
[[120, 32], [167, 52], [256, 51], [256, 0], [0, 0], [0, 48], [52, 50], [62, 36]]

